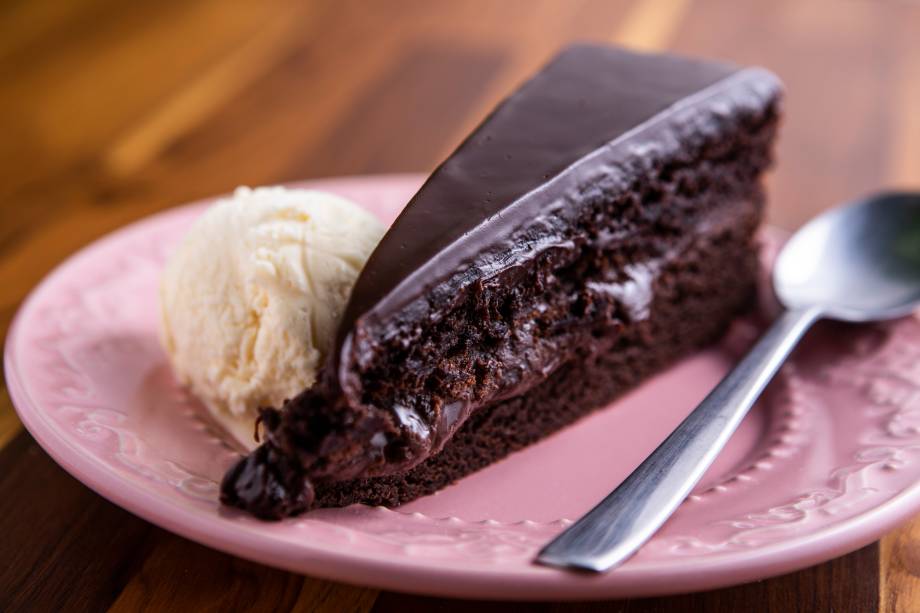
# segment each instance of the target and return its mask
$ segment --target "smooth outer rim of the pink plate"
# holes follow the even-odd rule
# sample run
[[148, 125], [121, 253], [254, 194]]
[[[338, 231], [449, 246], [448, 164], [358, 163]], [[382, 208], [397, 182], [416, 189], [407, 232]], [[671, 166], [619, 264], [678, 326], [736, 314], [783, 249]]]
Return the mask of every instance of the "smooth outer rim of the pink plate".
[[[415, 180], [422, 175], [381, 174], [328, 177], [287, 183], [288, 186], [324, 183], [373, 183]], [[295, 573], [401, 592], [460, 598], [494, 598], [506, 600], [605, 599], [641, 597], [709, 590], [793, 572], [859, 549], [874, 542], [893, 527], [920, 511], [920, 481], [915, 482], [884, 503], [858, 515], [818, 529], [815, 532], [751, 550], [739, 551], [718, 559], [705, 557], [682, 560], [682, 572], [648, 572], [642, 568], [631, 572], [628, 566], [609, 574], [584, 576], [542, 567], [502, 567], [475, 571], [442, 566], [431, 561], [411, 558], [391, 559], [385, 554], [362, 552], [359, 548], [330, 549], [309, 541], [276, 538], [242, 529], [239, 524], [213, 521], [195, 509], [180, 508], [174, 502], [145, 490], [131, 480], [108, 470], [91, 454], [84, 453], [66, 438], [59, 436], [47, 422], [47, 408], [29, 393], [17, 370], [17, 344], [23, 331], [22, 322], [33, 305], [54, 282], [79, 260], [90, 257], [101, 246], [116, 240], [139, 225], [181, 210], [200, 207], [222, 195], [202, 198], [139, 218], [91, 241], [57, 264], [30, 291], [14, 316], [4, 346], [4, 374], [10, 400], [26, 430], [65, 471], [84, 485], [122, 509], [161, 528], [208, 547], [283, 568]], [[764, 225], [762, 231], [785, 233]], [[255, 520], [253, 520], [255, 521]], [[266, 543], [271, 542], [271, 551]], [[283, 552], [283, 558], [279, 553]], [[692, 560], [692, 564], [690, 563]], [[725, 571], [729, 570], [726, 573]], [[542, 572], [545, 571], [545, 572]]]

